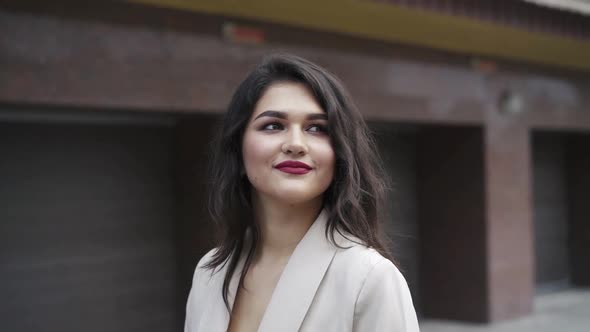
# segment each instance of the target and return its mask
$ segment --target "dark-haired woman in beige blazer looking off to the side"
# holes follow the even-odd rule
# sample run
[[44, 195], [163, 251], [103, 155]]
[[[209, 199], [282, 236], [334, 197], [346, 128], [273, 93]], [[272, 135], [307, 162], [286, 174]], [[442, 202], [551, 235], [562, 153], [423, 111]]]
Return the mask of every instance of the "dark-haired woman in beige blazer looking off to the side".
[[418, 331], [387, 258], [374, 143], [338, 79], [265, 59], [235, 92], [212, 164], [219, 246], [195, 270], [185, 331]]

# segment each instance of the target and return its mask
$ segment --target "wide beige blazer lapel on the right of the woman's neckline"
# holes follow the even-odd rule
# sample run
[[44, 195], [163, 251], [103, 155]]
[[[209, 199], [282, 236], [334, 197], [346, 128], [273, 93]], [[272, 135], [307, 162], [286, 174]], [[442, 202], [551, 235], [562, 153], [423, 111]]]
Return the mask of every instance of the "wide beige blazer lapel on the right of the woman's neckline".
[[327, 213], [322, 210], [287, 262], [258, 332], [297, 331], [330, 266], [336, 247], [325, 236]]

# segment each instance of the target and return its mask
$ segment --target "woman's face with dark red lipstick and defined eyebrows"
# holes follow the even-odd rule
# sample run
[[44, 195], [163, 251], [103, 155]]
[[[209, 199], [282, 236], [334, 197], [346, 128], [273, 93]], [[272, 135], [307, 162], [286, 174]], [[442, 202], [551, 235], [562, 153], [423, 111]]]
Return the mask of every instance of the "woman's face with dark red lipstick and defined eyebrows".
[[334, 175], [327, 115], [306, 86], [281, 82], [262, 95], [242, 142], [255, 193], [284, 203], [321, 199]]

